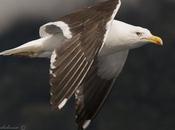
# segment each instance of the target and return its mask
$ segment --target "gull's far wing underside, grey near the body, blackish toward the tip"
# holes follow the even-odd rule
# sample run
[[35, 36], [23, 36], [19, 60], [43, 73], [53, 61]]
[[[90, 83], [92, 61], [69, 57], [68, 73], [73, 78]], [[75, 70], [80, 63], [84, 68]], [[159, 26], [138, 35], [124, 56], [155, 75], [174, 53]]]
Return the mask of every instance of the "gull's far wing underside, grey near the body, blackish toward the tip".
[[85, 80], [76, 90], [76, 122], [85, 129], [97, 115], [108, 97], [115, 79], [120, 74], [128, 51], [98, 57]]

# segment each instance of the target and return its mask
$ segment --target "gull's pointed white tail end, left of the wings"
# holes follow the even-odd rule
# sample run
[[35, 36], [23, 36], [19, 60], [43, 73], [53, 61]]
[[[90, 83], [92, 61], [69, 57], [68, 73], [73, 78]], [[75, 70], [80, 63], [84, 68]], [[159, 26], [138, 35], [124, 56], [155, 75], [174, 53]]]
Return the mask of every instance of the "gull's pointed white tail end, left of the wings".
[[0, 52], [0, 55], [50, 58], [52, 51], [55, 48], [61, 47], [61, 43], [64, 43], [64, 38], [62, 36], [50, 35], [30, 41], [19, 47]]

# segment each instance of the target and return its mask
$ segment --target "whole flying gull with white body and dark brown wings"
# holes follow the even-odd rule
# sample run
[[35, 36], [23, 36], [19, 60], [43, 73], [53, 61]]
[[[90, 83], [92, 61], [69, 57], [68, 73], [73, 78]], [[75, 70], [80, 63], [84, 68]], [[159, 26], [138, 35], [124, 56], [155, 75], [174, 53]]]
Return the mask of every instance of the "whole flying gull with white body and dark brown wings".
[[86, 129], [108, 97], [130, 49], [163, 45], [148, 29], [114, 20], [120, 0], [108, 0], [40, 28], [40, 39], [0, 55], [50, 58], [50, 95], [62, 109], [75, 95], [76, 122]]

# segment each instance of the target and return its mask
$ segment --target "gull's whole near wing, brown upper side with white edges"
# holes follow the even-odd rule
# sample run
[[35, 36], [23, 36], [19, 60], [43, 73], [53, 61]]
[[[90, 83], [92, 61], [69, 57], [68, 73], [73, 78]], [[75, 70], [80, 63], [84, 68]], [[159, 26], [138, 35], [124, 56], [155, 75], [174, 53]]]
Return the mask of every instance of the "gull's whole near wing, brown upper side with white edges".
[[[118, 4], [118, 0], [109, 0], [43, 26], [43, 36], [61, 30], [67, 38], [51, 56], [51, 104], [54, 108], [61, 109], [86, 77], [105, 41], [107, 27], [119, 8]], [[50, 25], [59, 29], [52, 31], [54, 26]]]

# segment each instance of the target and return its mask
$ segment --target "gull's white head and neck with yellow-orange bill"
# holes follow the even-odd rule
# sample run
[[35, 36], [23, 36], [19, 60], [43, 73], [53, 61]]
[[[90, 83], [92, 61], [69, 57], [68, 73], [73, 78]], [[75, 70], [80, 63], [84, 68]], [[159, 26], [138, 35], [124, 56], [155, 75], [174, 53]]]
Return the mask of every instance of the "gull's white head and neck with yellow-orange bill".
[[148, 29], [114, 20], [107, 42], [110, 48], [132, 49], [147, 43], [163, 45], [161, 38], [154, 36]]

